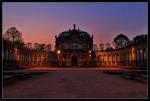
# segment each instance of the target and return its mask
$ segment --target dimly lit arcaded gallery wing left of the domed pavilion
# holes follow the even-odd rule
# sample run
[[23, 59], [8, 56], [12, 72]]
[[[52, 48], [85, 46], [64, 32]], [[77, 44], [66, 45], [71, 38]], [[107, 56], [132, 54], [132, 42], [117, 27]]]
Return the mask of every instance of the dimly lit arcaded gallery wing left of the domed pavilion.
[[22, 45], [13, 44], [12, 42], [3, 40], [2, 58], [3, 67], [21, 67], [34, 65], [50, 65], [53, 52], [38, 51], [28, 49]]

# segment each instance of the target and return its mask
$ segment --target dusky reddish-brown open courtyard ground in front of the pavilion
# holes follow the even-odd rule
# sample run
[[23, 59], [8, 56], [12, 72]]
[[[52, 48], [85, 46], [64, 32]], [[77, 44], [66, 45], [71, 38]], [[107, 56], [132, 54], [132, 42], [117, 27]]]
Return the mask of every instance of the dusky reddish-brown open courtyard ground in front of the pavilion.
[[96, 69], [54, 69], [4, 86], [3, 98], [147, 98], [147, 84]]

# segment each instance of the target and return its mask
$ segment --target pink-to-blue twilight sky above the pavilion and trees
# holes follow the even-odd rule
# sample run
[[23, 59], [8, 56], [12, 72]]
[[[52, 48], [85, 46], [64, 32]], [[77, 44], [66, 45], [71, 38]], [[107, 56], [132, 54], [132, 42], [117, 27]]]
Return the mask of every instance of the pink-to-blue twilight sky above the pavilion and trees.
[[94, 43], [112, 43], [123, 33], [130, 40], [148, 34], [148, 3], [103, 2], [3, 2], [3, 34], [12, 26], [22, 32], [25, 42], [51, 43], [55, 35], [76, 27], [93, 34]]

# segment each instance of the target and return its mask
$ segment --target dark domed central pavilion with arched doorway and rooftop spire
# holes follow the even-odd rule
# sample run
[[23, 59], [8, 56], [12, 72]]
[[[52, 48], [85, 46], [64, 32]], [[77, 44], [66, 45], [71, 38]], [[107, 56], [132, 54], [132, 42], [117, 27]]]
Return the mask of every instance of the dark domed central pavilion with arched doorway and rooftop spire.
[[[93, 35], [74, 29], [55, 37], [59, 65], [88, 65], [92, 57]], [[59, 53], [57, 53], [59, 51]]]

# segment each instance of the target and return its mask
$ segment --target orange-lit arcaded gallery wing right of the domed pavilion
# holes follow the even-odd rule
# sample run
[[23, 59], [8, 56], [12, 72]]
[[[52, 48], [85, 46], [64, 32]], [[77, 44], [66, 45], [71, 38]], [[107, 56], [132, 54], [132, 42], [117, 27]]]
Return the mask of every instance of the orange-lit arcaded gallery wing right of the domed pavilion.
[[108, 51], [97, 51], [98, 66], [147, 66], [147, 43], [131, 44]]

